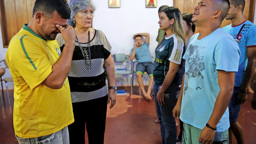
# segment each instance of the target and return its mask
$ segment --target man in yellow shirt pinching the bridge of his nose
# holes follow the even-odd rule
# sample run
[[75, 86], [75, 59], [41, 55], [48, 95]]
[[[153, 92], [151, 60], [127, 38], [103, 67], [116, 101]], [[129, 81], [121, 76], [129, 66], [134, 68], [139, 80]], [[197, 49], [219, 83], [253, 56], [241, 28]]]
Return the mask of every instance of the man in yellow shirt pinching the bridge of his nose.
[[[66, 0], [36, 0], [33, 17], [12, 40], [6, 60], [14, 80], [13, 124], [19, 143], [69, 143], [73, 109], [67, 75], [75, 32]], [[66, 41], [60, 52], [55, 37]]]

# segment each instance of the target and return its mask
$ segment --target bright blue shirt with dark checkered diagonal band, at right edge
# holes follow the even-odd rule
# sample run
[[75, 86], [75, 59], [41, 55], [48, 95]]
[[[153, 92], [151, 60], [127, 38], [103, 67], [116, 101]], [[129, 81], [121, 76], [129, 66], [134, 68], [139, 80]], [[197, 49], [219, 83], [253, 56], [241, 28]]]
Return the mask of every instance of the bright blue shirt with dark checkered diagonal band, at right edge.
[[238, 72], [235, 74], [235, 85], [241, 86], [244, 79], [244, 70], [247, 66], [247, 49], [256, 47], [256, 26], [249, 20], [244, 21], [238, 26], [225, 26], [223, 28], [238, 43], [241, 51]]

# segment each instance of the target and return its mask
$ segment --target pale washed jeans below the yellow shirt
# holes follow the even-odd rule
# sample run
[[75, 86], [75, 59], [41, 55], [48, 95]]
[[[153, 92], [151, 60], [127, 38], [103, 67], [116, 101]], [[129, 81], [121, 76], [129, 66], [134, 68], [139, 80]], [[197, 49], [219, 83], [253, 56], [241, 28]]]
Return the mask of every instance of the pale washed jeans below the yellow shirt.
[[40, 136], [38, 138], [20, 138], [15, 135], [19, 144], [69, 144], [69, 135], [67, 127], [54, 132], [50, 135]]

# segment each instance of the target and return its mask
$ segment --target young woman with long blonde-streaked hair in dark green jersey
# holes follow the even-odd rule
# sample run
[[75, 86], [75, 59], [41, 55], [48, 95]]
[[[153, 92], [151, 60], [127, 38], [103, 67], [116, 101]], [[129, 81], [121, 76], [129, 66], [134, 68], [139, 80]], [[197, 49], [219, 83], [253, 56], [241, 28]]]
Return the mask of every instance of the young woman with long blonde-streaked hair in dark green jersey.
[[180, 10], [176, 7], [164, 9], [158, 23], [160, 29], [165, 31], [165, 37], [155, 50], [153, 92], [162, 115], [160, 129], [163, 144], [176, 144], [177, 127], [172, 109], [177, 101], [176, 92], [181, 81], [178, 69], [185, 52], [185, 32]]

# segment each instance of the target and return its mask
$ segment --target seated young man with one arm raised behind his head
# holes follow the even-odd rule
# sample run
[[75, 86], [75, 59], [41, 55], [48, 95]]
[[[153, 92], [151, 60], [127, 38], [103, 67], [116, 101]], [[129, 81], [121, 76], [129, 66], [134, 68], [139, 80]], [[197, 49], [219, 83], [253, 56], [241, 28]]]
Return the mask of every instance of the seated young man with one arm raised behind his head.
[[[145, 42], [143, 43], [143, 38], [142, 36], [145, 37]], [[146, 100], [151, 100], [150, 96], [150, 89], [153, 84], [153, 69], [154, 69], [154, 64], [153, 64], [153, 59], [151, 57], [150, 51], [148, 49], [149, 45], [149, 34], [148, 33], [138, 33], [135, 34], [134, 37], [135, 43], [134, 43], [134, 48], [131, 49], [130, 53], [130, 60], [133, 60], [134, 58], [137, 59], [137, 66], [136, 66], [136, 76], [137, 76], [137, 81], [139, 83], [140, 89], [142, 90], [143, 96], [145, 97]], [[143, 43], [143, 44], [142, 44]], [[148, 91], [145, 91], [144, 85], [143, 85], [143, 80], [142, 76], [144, 72], [148, 73], [148, 76], [150, 78], [149, 83], [148, 83]]]

